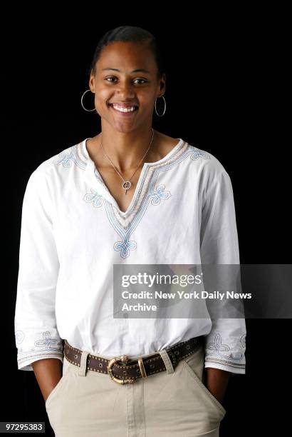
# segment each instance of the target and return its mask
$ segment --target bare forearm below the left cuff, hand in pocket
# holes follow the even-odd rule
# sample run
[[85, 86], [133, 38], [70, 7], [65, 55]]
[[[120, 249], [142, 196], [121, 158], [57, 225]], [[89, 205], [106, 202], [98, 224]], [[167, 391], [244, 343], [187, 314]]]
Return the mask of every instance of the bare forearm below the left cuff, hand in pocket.
[[44, 358], [31, 363], [38, 386], [46, 401], [62, 377], [62, 363], [58, 358]]

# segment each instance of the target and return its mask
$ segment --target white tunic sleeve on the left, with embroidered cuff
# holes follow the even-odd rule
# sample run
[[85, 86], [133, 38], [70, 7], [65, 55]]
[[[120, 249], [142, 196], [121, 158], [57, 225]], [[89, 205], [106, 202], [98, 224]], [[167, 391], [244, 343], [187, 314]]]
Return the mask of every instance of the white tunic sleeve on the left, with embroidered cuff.
[[18, 368], [25, 371], [33, 371], [31, 363], [43, 358], [63, 362], [55, 317], [59, 261], [46, 170], [45, 163], [33, 171], [22, 205], [14, 327]]

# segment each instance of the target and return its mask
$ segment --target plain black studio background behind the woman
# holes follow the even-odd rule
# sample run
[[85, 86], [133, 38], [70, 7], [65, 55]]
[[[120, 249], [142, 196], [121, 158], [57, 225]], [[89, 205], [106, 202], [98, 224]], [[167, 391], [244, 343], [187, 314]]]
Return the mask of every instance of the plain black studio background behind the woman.
[[[46, 435], [53, 435], [33, 372], [17, 370], [14, 306], [21, 205], [28, 177], [42, 161], [100, 131], [99, 116], [85, 112], [80, 97], [88, 89], [88, 67], [105, 31], [140, 26], [157, 37], [167, 67], [167, 109], [161, 118], [154, 114], [153, 127], [211, 152], [229, 173], [241, 263], [291, 263], [286, 11], [209, 6], [191, 13], [176, 5], [169, 10], [157, 6], [132, 4], [135, 13], [128, 11], [123, 18], [115, 4], [96, 9], [88, 4], [84, 11], [63, 14], [45, 6], [17, 7], [2, 17], [6, 265], [0, 421], [46, 421]], [[140, 19], [144, 11], [150, 20]], [[85, 104], [93, 107], [89, 99]], [[266, 435], [273, 429], [286, 435], [290, 319], [249, 319], [246, 328], [246, 375], [231, 378], [220, 436]]]

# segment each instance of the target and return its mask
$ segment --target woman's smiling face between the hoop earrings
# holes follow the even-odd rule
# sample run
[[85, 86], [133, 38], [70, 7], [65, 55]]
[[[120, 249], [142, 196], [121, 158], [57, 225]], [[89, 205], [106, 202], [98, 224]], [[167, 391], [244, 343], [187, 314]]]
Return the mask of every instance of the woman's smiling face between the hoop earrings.
[[[157, 80], [155, 57], [145, 44], [116, 42], [105, 46], [90, 74], [90, 90], [95, 93], [95, 109], [117, 131], [132, 131], [152, 126], [155, 100], [165, 92], [165, 77]], [[135, 71], [135, 70], [145, 71]], [[123, 116], [111, 104], [137, 105]]]

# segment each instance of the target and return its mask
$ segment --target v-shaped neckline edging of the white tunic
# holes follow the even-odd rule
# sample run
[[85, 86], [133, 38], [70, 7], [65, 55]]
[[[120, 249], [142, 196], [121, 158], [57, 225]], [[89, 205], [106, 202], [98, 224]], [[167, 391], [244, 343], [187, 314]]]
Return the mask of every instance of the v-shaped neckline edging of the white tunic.
[[121, 211], [120, 206], [118, 205], [118, 202], [115, 200], [113, 195], [110, 193], [108, 186], [105, 184], [103, 177], [100, 175], [100, 172], [98, 171], [97, 167], [95, 166], [95, 162], [93, 161], [93, 159], [90, 158], [90, 155], [88, 154], [88, 150], [86, 147], [86, 141], [88, 139], [91, 139], [91, 137], [85, 138], [82, 141], [83, 155], [88, 159], [88, 165], [86, 166], [86, 173], [88, 172], [91, 181], [94, 181], [95, 184], [96, 184], [96, 182], [100, 183], [99, 191], [102, 191], [102, 193], [100, 193], [100, 194], [102, 194], [105, 197], [105, 199], [110, 201], [110, 203], [113, 204], [113, 206], [115, 206], [116, 209], [118, 209], [119, 214], [121, 214], [122, 216], [127, 216], [127, 214], [132, 210], [132, 206], [133, 206], [135, 200], [137, 199], [137, 195], [140, 191], [140, 186], [142, 184], [146, 169], [148, 167], [160, 166], [160, 164], [163, 164], [165, 161], [168, 161], [172, 156], [174, 156], [174, 154], [177, 152], [177, 150], [180, 148], [180, 146], [182, 146], [182, 143], [184, 143], [183, 139], [177, 138], [177, 140], [179, 142], [162, 159], [160, 159], [159, 161], [155, 161], [155, 162], [145, 162], [143, 164], [139, 179], [137, 181], [137, 185], [135, 187], [134, 194], [133, 194], [132, 199], [130, 201], [130, 204], [127, 207], [126, 211]]

